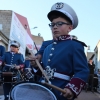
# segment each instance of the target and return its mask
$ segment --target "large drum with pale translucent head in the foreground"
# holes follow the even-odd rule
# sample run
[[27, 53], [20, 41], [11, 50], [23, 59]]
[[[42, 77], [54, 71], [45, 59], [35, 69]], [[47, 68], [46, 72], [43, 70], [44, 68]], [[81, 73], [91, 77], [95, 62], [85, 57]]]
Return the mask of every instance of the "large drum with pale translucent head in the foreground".
[[20, 82], [10, 91], [11, 100], [57, 100], [46, 86], [36, 82]]

